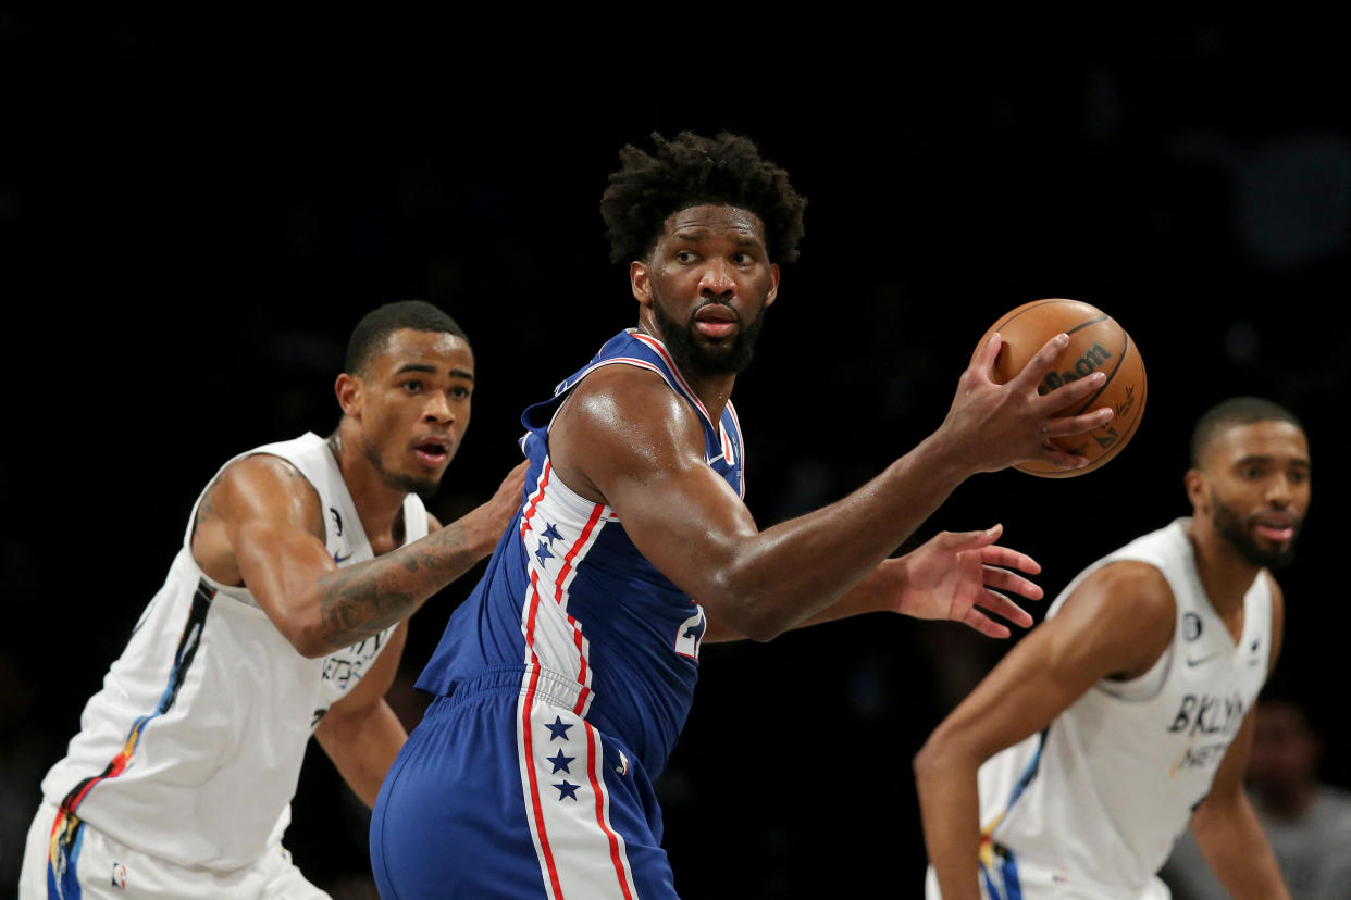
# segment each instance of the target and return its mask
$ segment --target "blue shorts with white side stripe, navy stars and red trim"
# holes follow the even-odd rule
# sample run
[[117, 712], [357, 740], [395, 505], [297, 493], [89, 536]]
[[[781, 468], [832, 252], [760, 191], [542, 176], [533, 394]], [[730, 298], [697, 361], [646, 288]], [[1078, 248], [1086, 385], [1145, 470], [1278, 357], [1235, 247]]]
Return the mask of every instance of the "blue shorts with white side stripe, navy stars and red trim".
[[646, 772], [576, 700], [513, 667], [432, 702], [372, 815], [381, 897], [677, 896]]

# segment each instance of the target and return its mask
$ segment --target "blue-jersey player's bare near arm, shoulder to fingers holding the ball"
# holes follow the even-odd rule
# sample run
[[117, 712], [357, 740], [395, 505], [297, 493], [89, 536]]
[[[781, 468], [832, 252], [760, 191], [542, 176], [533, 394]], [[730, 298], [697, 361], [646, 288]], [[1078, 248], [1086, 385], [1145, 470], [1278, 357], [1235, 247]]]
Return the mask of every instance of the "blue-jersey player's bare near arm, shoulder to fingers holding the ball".
[[[992, 341], [973, 362], [943, 425], [912, 452], [844, 499], [763, 532], [705, 464], [694, 412], [651, 372], [588, 376], [550, 429], [550, 455], [563, 483], [612, 506], [643, 556], [720, 627], [770, 640], [848, 594], [967, 476], [1028, 457], [1069, 466], [1046, 436], [1111, 417], [1051, 418], [1071, 401], [1035, 391], [1056, 344], [1004, 386], [988, 376], [997, 349]], [[1090, 376], [1055, 394], [1098, 386]]]

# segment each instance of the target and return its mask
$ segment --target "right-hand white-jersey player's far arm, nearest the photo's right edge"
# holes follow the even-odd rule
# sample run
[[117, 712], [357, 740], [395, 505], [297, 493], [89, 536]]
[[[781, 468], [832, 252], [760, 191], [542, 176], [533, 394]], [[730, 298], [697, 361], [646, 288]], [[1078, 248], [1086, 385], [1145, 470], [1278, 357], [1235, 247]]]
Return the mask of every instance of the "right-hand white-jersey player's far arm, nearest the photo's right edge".
[[[1263, 573], [1260, 578], [1270, 578]], [[1271, 665], [1281, 652], [1285, 623], [1285, 603], [1275, 582], [1271, 582]], [[1210, 792], [1192, 816], [1192, 834], [1210, 864], [1220, 884], [1233, 900], [1289, 900], [1290, 892], [1281, 877], [1275, 854], [1267, 842], [1247, 791], [1243, 773], [1252, 752], [1252, 710], [1243, 727], [1224, 754], [1215, 773]]]

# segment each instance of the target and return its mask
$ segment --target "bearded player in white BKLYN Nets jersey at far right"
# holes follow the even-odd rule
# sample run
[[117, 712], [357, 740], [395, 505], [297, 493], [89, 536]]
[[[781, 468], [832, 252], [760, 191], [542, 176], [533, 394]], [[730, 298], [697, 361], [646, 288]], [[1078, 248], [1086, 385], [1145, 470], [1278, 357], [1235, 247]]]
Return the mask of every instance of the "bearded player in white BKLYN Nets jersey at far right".
[[[1079, 573], [915, 760], [931, 899], [1165, 899], [1190, 826], [1238, 900], [1289, 897], [1243, 791], [1309, 505], [1293, 414], [1235, 398], [1192, 437], [1193, 515]], [[942, 891], [940, 891], [942, 889]]]

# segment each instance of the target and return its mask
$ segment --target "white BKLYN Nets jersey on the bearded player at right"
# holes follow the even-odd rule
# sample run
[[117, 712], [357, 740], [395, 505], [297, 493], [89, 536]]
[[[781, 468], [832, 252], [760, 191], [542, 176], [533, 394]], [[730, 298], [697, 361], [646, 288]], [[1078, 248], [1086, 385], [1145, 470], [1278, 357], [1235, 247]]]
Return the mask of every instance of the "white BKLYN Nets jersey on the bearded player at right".
[[1129, 681], [1098, 681], [1046, 730], [979, 770], [984, 833], [1085, 896], [1150, 889], [1266, 680], [1269, 576], [1244, 594], [1235, 644], [1201, 586], [1185, 525], [1178, 519], [1098, 560], [1047, 611], [1055, 615], [1108, 563], [1147, 563], [1177, 606], [1173, 641], [1158, 663]]

